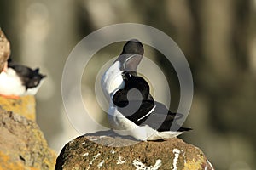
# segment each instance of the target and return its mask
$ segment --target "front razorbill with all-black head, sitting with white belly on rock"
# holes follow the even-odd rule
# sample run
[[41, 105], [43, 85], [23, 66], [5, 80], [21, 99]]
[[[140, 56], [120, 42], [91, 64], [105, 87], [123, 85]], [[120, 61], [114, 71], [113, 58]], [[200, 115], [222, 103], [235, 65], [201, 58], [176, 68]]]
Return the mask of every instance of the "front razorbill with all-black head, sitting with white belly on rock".
[[176, 122], [183, 115], [148, 99], [149, 85], [143, 77], [134, 76], [132, 71], [125, 71], [122, 76], [125, 87], [113, 94], [108, 110], [108, 121], [115, 133], [145, 141], [170, 139], [190, 130]]

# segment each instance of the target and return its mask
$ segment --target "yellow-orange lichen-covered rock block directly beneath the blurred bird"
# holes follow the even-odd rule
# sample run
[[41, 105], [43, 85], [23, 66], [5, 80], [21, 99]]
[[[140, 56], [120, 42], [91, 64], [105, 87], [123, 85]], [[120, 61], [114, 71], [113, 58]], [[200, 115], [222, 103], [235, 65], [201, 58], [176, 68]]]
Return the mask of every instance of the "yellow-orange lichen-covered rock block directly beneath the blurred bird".
[[36, 101], [31, 95], [20, 96], [18, 99], [6, 98], [0, 95], [0, 105], [6, 111], [13, 111], [26, 116], [32, 121], [36, 120]]

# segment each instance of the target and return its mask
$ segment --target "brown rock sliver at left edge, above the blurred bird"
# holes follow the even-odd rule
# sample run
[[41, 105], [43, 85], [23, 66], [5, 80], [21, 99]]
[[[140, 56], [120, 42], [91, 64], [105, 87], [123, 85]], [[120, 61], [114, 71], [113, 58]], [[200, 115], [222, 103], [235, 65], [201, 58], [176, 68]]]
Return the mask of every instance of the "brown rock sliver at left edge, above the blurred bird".
[[3, 71], [4, 62], [9, 59], [10, 44], [0, 28], [0, 72]]

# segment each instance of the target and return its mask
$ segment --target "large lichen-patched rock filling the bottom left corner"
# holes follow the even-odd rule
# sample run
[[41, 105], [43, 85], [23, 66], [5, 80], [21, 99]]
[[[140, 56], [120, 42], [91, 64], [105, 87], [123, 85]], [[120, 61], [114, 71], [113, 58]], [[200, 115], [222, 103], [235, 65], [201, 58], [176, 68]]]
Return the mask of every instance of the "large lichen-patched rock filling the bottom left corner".
[[0, 170], [54, 169], [55, 153], [35, 122], [0, 108], [0, 134]]

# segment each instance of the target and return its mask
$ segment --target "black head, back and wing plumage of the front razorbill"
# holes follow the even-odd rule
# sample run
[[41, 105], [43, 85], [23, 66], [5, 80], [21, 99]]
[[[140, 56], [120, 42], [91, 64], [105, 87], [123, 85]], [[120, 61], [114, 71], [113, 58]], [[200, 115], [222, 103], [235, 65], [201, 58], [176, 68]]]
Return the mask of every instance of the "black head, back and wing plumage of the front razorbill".
[[[165, 105], [154, 101], [149, 94], [149, 85], [143, 77], [135, 76], [133, 71], [123, 72], [125, 88], [119, 89], [113, 95], [113, 104], [118, 106], [126, 118], [137, 125], [147, 124], [158, 131], [187, 131], [190, 128], [179, 126], [175, 120], [183, 117], [178, 113], [169, 111]], [[128, 92], [137, 89], [142, 99], [128, 99]], [[172, 128], [171, 128], [172, 127]]]

